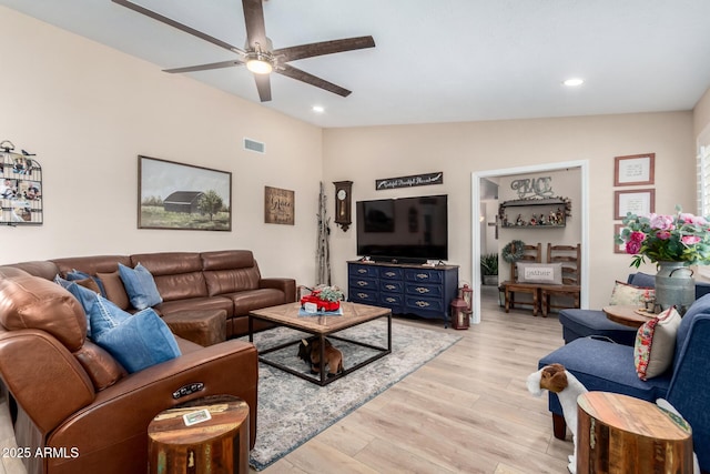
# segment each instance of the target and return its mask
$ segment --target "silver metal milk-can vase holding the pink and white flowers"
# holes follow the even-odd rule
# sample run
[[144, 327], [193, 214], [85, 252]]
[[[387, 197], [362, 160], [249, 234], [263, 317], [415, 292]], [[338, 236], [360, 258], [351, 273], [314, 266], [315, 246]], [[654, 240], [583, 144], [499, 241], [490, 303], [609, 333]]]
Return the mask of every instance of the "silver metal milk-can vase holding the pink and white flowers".
[[692, 270], [683, 262], [658, 262], [656, 273], [656, 304], [661, 310], [676, 306], [682, 315], [696, 301], [696, 281]]

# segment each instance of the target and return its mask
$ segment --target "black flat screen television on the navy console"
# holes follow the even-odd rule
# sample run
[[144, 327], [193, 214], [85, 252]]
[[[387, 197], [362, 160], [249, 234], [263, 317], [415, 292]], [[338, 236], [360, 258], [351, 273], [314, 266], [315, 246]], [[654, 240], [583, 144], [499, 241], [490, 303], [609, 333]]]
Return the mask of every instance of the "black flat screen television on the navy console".
[[357, 254], [375, 261], [448, 259], [447, 195], [356, 203]]

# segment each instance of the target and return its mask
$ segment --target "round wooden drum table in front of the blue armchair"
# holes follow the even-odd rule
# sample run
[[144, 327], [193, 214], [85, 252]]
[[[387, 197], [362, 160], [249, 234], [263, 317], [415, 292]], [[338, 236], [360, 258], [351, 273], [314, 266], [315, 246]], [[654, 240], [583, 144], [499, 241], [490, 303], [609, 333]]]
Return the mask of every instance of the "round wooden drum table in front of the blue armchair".
[[683, 418], [609, 392], [584, 393], [577, 406], [577, 474], [692, 474], [692, 432]]

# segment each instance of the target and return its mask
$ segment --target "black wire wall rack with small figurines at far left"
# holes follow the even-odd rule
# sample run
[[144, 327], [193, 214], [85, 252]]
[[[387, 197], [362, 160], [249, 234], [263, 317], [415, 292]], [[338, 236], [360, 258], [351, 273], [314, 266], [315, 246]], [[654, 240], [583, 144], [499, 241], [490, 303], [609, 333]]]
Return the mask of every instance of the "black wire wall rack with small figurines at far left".
[[42, 224], [42, 167], [34, 153], [0, 142], [0, 225]]

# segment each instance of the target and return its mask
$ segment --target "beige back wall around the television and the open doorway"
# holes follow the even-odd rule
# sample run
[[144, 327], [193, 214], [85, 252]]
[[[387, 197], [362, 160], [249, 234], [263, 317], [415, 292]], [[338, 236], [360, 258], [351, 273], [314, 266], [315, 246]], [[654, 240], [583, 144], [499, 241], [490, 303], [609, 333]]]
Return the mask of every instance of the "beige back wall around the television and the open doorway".
[[[459, 279], [470, 282], [471, 173], [586, 160], [589, 305], [599, 307], [608, 301], [613, 280], [626, 279], [630, 271], [630, 259], [613, 253], [613, 158], [655, 152], [656, 209], [672, 212], [681, 204], [692, 210], [694, 185], [688, 185], [694, 183], [692, 127], [691, 112], [673, 112], [327, 129], [324, 182], [353, 180], [354, 200], [449, 194], [449, 263], [460, 265]], [[444, 184], [375, 191], [375, 179], [434, 171], [444, 172]], [[331, 194], [332, 189], [331, 184]], [[344, 262], [356, 258], [355, 252], [355, 229], [337, 229], [332, 255], [338, 284], [346, 284]]]

